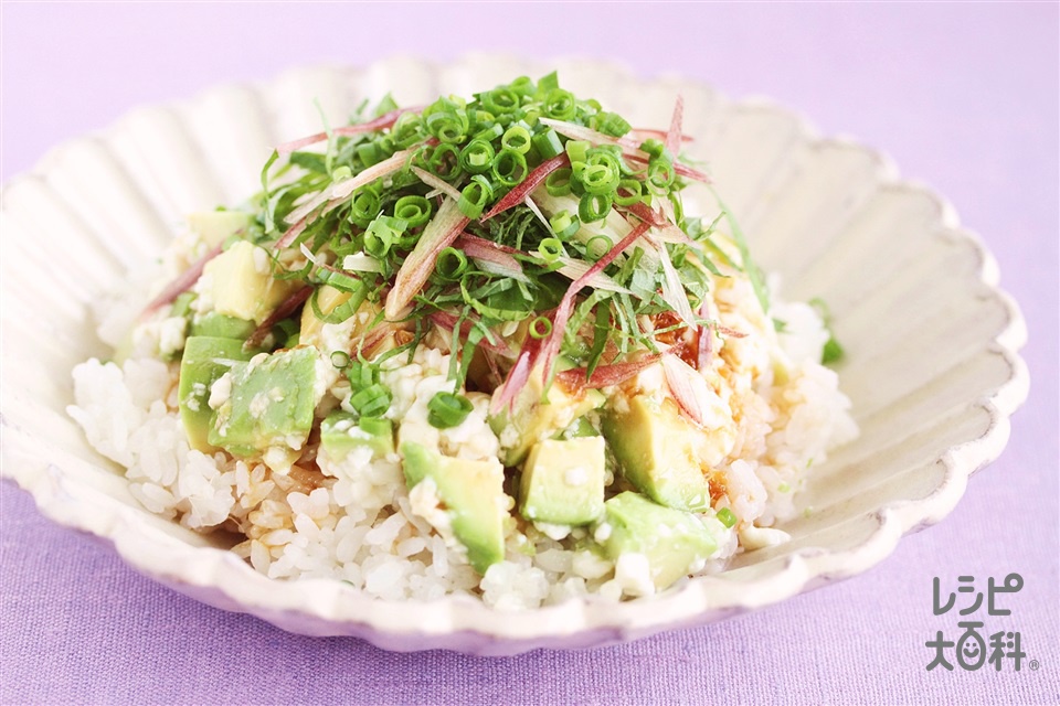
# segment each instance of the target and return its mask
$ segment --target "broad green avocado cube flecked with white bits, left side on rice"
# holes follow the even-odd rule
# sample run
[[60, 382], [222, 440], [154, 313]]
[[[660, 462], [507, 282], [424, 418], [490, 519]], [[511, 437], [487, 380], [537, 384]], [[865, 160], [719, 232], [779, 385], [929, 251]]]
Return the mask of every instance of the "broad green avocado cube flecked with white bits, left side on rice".
[[[259, 353], [232, 366], [231, 391], [218, 408], [210, 443], [235, 456], [300, 449], [312, 427], [317, 353], [297, 347]], [[218, 383], [221, 384], [221, 383]]]

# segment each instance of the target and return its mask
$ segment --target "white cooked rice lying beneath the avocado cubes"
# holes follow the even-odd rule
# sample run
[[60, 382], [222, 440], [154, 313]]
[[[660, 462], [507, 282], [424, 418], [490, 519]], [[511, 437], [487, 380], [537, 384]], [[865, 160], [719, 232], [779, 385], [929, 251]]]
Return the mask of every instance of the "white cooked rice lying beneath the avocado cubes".
[[[372, 460], [370, 452], [353, 452], [341, 461], [319, 453], [314, 467], [294, 466], [285, 474], [191, 449], [178, 414], [179, 363], [160, 360], [160, 352], [182, 345], [180, 332], [165, 315], [137, 323], [149, 282], [168, 281], [182, 267], [172, 258], [157, 265], [97, 304], [100, 338], [124, 345], [128, 355], [120, 364], [77, 365], [76, 404], [68, 407], [92, 446], [126, 469], [130, 492], [148, 511], [195, 531], [244, 535], [234, 552], [269, 578], [332, 578], [383, 599], [463, 593], [499, 609], [531, 609], [581, 596], [618, 600], [654, 591], [638, 565], [643, 557], [624, 555], [615, 564], [571, 548], [587, 528], [564, 538], [511, 516], [505, 560], [478, 576], [458, 543], [438, 532], [444, 523], [428, 522], [437, 500], [428, 483], [409, 492], [396, 453]], [[713, 295], [712, 318], [753, 335], [725, 339], [713, 356], [721, 381], [716, 411], [727, 430], [711, 463], [725, 489], [716, 510], [730, 506], [741, 522], [724, 532], [699, 574], [719, 570], [736, 552], [785, 541], [773, 525], [794, 514], [793, 496], [808, 469], [857, 435], [836, 373], [818, 363], [828, 333], [812, 307], [774, 297], [771, 313], [786, 322], [778, 333], [745, 278], [717, 279]], [[341, 325], [328, 324], [325, 335], [340, 335], [329, 329]], [[496, 458], [487, 395], [468, 394], [474, 410], [455, 428], [427, 424], [431, 397], [453, 391], [447, 351], [436, 343], [420, 346], [411, 364], [405, 356], [383, 364], [382, 382], [393, 393], [385, 416], [399, 440], [428, 438], [447, 456]], [[639, 375], [642, 389], [665, 384], [657, 367]], [[322, 377], [327, 393], [318, 417], [349, 392], [338, 374]], [[621, 488], [616, 475], [610, 480]]]

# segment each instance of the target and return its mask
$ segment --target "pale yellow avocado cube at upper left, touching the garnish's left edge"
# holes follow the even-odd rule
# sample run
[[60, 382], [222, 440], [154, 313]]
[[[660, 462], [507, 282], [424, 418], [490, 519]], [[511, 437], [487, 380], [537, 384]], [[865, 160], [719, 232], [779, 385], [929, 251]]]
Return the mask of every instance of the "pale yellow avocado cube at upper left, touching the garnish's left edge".
[[203, 276], [218, 313], [261, 323], [298, 285], [275, 279], [268, 253], [247, 240], [206, 263]]

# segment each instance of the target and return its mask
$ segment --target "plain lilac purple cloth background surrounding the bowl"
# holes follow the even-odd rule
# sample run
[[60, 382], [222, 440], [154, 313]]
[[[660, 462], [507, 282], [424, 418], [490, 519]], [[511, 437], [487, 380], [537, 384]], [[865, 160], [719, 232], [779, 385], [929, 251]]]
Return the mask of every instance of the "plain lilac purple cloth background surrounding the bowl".
[[[2, 6], [2, 175], [135, 105], [294, 64], [492, 50], [767, 95], [945, 194], [1027, 317], [1030, 398], [941, 525], [849, 581], [593, 652], [390, 654], [284, 633], [140, 577], [2, 484], [0, 702], [1058, 703], [1058, 30], [1019, 4]], [[1020, 672], [928, 672], [932, 577], [1018, 571]], [[1038, 660], [1040, 668], [1028, 663]]]

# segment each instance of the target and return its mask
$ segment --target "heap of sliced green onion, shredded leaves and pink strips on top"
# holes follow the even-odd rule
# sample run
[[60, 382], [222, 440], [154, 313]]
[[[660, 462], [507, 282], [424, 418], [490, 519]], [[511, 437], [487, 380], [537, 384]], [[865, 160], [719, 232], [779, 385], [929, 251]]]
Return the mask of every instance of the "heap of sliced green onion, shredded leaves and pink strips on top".
[[[563, 89], [554, 73], [418, 109], [402, 110], [388, 96], [374, 115], [272, 156], [258, 239], [272, 244], [277, 277], [315, 288], [307, 306], [321, 321], [344, 321], [368, 302], [409, 332], [399, 349], [410, 359], [436, 315], [453, 318], [444, 333], [457, 389], [479, 349], [512, 327], [517, 341], [538, 342], [547, 368], [562, 354], [591, 375], [657, 352], [660, 331], [706, 323], [691, 312], [710, 276], [720, 265], [735, 268], [712, 242], [718, 220], [685, 218], [679, 192], [706, 176], [676, 156], [679, 119], [668, 139], [638, 139], [622, 116]], [[765, 310], [761, 274], [721, 205]], [[675, 226], [689, 237], [650, 235]], [[637, 228], [647, 237], [618, 252]], [[322, 312], [324, 285], [349, 299]], [[508, 370], [518, 353], [492, 363]], [[364, 376], [371, 365], [358, 353], [344, 366], [363, 416], [390, 404], [378, 370]], [[464, 409], [451, 397], [432, 400], [435, 421]]]

